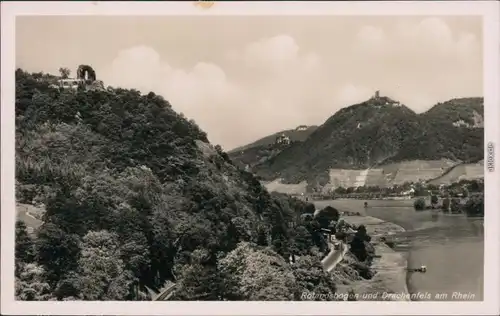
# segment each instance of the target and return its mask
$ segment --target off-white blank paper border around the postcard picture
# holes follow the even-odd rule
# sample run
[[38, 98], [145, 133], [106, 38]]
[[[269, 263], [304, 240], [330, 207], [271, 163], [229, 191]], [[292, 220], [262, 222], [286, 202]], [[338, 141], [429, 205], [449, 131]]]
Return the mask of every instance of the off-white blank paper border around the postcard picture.
[[[4, 315], [479, 315], [499, 313], [499, 172], [485, 169], [483, 302], [19, 302], [14, 300], [14, 67], [16, 15], [480, 15], [483, 16], [485, 145], [499, 146], [499, 3], [496, 1], [2, 2], [1, 313]], [[41, 57], [43, 54], [41, 53]], [[43, 58], [43, 57], [42, 57]], [[485, 146], [486, 147], [486, 146]], [[485, 153], [486, 156], [486, 153]], [[466, 258], [464, 258], [466, 260]], [[418, 308], [417, 305], [418, 304]]]

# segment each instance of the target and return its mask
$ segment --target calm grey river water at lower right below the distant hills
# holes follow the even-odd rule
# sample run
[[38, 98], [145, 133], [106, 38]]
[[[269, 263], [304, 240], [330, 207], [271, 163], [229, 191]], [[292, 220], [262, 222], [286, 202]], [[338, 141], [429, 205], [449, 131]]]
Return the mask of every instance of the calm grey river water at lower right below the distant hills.
[[430, 211], [419, 212], [409, 206], [391, 207], [387, 201], [383, 206], [378, 206], [382, 204], [378, 201], [370, 201], [369, 204], [375, 205], [363, 210], [363, 202], [329, 201], [327, 204], [341, 211], [360, 211], [407, 230], [396, 236], [400, 245], [395, 250], [406, 253], [410, 268], [427, 266], [426, 273], [408, 273], [410, 293], [430, 294], [430, 300], [483, 300], [482, 219], [470, 219], [463, 215], [433, 216]]

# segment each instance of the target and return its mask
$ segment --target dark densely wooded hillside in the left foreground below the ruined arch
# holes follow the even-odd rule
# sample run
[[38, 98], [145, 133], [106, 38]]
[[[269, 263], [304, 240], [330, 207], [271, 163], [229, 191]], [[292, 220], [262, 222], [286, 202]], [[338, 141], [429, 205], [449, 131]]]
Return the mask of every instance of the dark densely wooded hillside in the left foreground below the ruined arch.
[[314, 205], [268, 193], [164, 98], [15, 77], [16, 199], [45, 209], [16, 224], [17, 299], [150, 300], [168, 281], [173, 300], [332, 297]]

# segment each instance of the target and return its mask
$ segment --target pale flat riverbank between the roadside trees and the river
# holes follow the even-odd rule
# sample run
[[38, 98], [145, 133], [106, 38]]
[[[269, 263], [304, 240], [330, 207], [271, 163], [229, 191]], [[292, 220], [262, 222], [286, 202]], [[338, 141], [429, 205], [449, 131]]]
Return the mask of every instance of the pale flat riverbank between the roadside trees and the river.
[[[410, 294], [406, 282], [407, 260], [403, 253], [396, 252], [385, 243], [380, 242], [381, 236], [404, 232], [405, 229], [391, 222], [371, 216], [346, 216], [344, 220], [355, 226], [365, 225], [368, 235], [372, 237], [372, 246], [376, 258], [370, 269], [374, 272], [371, 279], [343, 278], [338, 282], [339, 293], [347, 293], [350, 289], [359, 295], [358, 300], [366, 301], [409, 301]], [[348, 253], [344, 260], [334, 269], [338, 275], [353, 264], [353, 256]], [[339, 281], [339, 280], [338, 280]]]

